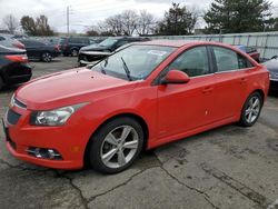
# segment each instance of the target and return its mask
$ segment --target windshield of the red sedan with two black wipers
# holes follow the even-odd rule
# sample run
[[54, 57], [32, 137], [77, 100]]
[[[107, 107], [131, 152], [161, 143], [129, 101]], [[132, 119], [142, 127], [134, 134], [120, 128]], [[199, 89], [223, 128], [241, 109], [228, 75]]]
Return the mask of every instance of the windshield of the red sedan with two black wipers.
[[126, 80], [141, 80], [146, 79], [175, 49], [160, 46], [130, 46], [91, 69]]

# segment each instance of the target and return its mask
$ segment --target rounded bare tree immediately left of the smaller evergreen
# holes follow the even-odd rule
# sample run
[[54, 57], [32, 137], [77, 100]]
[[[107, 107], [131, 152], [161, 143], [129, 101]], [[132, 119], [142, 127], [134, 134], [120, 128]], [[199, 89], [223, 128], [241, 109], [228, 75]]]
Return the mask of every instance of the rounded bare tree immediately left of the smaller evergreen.
[[138, 26], [136, 28], [138, 34], [140, 36], [149, 34], [153, 32], [155, 27], [156, 27], [155, 17], [151, 13], [147, 12], [146, 10], [141, 10], [138, 18]]

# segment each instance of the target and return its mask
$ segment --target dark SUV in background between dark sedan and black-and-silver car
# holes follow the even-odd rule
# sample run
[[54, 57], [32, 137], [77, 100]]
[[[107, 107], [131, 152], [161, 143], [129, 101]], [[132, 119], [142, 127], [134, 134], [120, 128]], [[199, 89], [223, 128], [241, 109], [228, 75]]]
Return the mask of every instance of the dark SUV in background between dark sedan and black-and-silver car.
[[60, 39], [60, 49], [63, 56], [78, 56], [80, 48], [95, 43], [89, 37], [69, 37]]

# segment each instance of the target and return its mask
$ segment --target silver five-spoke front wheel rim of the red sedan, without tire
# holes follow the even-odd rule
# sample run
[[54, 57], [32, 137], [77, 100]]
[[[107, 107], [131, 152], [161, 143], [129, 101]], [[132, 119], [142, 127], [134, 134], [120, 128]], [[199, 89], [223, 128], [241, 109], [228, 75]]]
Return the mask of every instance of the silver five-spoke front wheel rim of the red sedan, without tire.
[[102, 162], [108, 168], [121, 168], [136, 155], [139, 135], [131, 126], [120, 126], [110, 131], [101, 146]]

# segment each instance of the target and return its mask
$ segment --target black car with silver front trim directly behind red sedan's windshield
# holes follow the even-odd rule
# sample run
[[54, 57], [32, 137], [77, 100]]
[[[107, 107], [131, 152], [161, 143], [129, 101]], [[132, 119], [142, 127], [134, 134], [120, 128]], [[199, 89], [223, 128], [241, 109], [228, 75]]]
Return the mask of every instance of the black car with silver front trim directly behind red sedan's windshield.
[[82, 47], [78, 54], [79, 66], [101, 60], [123, 44], [140, 41], [150, 41], [150, 39], [142, 37], [112, 37], [98, 44]]

